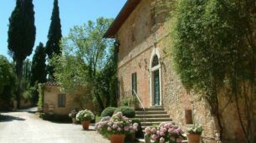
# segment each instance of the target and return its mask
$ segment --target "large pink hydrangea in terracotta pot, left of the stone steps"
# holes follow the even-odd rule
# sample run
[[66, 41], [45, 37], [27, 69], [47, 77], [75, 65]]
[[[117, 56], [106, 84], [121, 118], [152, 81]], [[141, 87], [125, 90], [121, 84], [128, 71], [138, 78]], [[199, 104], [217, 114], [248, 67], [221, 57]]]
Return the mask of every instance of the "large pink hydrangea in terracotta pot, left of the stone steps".
[[99, 123], [95, 124], [95, 129], [103, 136], [109, 137], [111, 143], [123, 143], [126, 135], [138, 131], [138, 123], [132, 124], [129, 118], [117, 112], [112, 117], [102, 118]]

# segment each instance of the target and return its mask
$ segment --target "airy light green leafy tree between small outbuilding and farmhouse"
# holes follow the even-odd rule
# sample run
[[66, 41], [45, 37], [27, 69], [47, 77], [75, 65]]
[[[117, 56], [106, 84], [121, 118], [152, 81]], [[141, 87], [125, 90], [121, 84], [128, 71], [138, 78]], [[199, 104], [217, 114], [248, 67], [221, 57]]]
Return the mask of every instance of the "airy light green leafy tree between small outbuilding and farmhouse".
[[96, 22], [89, 21], [83, 26], [72, 28], [62, 42], [63, 57], [54, 64], [54, 75], [62, 85], [92, 87], [91, 93], [100, 111], [105, 108], [105, 100], [110, 100], [102, 94], [104, 85], [101, 74], [110, 63], [113, 53], [110, 51], [113, 41], [102, 38], [112, 21], [100, 17]]

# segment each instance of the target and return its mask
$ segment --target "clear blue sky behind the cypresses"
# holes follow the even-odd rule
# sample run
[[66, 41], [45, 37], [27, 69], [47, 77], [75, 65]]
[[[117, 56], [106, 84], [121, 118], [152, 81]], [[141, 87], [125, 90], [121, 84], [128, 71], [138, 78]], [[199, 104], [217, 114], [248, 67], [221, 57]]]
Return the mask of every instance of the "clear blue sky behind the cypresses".
[[[82, 25], [89, 20], [116, 17], [125, 2], [126, 0], [59, 0], [62, 35], [67, 36], [71, 27]], [[8, 56], [8, 18], [15, 4], [16, 0], [0, 0], [0, 55], [8, 57], [9, 60], [12, 58]], [[39, 42], [43, 42], [44, 45], [47, 42], [54, 0], [33, 0], [33, 5], [37, 27], [34, 50]]]

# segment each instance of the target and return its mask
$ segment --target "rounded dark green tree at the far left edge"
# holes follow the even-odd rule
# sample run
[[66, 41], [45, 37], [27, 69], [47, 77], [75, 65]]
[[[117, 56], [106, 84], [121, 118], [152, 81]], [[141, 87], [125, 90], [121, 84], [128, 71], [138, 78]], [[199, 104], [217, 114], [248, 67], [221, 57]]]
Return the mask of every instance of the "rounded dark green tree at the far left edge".
[[15, 88], [13, 65], [6, 57], [0, 56], [0, 108], [8, 108]]

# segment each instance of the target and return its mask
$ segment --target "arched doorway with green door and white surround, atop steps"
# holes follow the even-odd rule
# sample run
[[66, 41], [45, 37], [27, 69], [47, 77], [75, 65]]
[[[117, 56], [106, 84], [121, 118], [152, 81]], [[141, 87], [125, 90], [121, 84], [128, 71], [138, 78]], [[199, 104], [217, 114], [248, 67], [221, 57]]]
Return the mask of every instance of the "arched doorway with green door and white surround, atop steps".
[[151, 106], [161, 106], [161, 63], [159, 62], [160, 53], [154, 49], [151, 54], [151, 76], [150, 93]]

